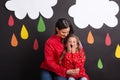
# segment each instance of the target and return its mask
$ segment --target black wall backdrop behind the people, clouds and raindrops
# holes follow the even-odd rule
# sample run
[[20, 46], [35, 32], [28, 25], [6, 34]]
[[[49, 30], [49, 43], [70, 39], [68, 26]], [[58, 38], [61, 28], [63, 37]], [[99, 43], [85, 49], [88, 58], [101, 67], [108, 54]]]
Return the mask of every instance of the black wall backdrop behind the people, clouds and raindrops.
[[[43, 47], [46, 39], [54, 34], [54, 25], [57, 19], [65, 17], [73, 23], [73, 18], [68, 15], [68, 9], [75, 4], [75, 0], [58, 0], [53, 7], [54, 15], [50, 19], [43, 17], [46, 25], [45, 32], [37, 32], [39, 18], [32, 20], [28, 16], [19, 20], [14, 12], [5, 8], [5, 2], [0, 1], [0, 80], [40, 80], [39, 65], [43, 60]], [[114, 0], [120, 4], [119, 0]], [[8, 26], [9, 16], [12, 15], [15, 21], [13, 27]], [[40, 15], [42, 16], [42, 15]], [[120, 13], [117, 15], [118, 21]], [[20, 37], [22, 25], [25, 24], [29, 31], [29, 38], [23, 40]], [[117, 44], [120, 43], [120, 24], [114, 28], [103, 25], [100, 29], [94, 29], [88, 26], [85, 29], [79, 29], [74, 25], [75, 34], [79, 36], [86, 52], [85, 68], [90, 80], [120, 80], [120, 59], [115, 58]], [[95, 42], [87, 43], [87, 35], [92, 31]], [[18, 39], [18, 46], [10, 45], [11, 36], [15, 33]], [[104, 41], [106, 34], [109, 33], [112, 44], [106, 46]], [[39, 42], [39, 49], [33, 49], [34, 39]], [[101, 58], [103, 69], [98, 69], [97, 62]]]

